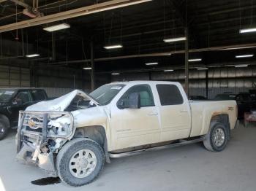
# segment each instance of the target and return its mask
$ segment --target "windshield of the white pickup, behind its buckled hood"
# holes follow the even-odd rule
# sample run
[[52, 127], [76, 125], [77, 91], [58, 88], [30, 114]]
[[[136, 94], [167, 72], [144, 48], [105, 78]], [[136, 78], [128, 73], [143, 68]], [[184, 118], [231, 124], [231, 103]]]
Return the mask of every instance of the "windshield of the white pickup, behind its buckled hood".
[[122, 84], [115, 85], [102, 85], [101, 87], [90, 93], [91, 97], [94, 98], [99, 104], [106, 105], [120, 92], [124, 87]]

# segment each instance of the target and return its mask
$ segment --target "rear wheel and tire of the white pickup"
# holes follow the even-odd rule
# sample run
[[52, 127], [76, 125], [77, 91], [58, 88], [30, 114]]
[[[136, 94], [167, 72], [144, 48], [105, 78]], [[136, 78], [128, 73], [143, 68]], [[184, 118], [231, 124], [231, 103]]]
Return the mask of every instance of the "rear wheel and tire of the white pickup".
[[222, 122], [214, 122], [211, 129], [206, 134], [203, 145], [209, 151], [220, 152], [227, 146], [228, 132], [226, 126]]

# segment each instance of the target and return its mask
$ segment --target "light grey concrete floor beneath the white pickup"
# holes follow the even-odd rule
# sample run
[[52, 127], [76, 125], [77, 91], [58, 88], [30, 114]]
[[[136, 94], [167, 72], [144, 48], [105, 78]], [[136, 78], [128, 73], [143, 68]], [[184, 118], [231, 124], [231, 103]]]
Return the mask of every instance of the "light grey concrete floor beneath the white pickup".
[[47, 177], [39, 168], [15, 162], [15, 131], [0, 141], [0, 191], [10, 190], [253, 190], [256, 187], [256, 127], [232, 131], [223, 152], [201, 144], [112, 160], [99, 178], [83, 187], [37, 186]]

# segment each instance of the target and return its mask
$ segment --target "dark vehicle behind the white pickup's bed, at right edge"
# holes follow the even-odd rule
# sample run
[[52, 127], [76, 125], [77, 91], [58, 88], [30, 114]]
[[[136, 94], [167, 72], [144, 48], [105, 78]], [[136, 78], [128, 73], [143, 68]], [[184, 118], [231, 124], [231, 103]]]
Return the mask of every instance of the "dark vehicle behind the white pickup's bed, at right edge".
[[238, 118], [244, 118], [244, 112], [256, 109], [256, 101], [250, 93], [222, 93], [215, 96], [214, 100], [236, 100], [238, 106]]

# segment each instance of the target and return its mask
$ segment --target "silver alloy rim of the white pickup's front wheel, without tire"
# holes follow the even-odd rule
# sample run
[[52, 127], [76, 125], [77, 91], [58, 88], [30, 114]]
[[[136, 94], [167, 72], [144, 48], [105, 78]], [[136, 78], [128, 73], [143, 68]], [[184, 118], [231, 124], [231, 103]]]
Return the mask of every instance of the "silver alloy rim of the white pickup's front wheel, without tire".
[[94, 171], [97, 165], [97, 158], [94, 152], [89, 149], [82, 149], [75, 152], [69, 161], [69, 171], [76, 178], [85, 178]]

